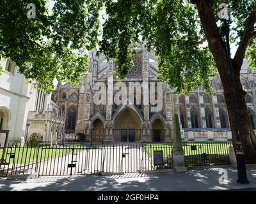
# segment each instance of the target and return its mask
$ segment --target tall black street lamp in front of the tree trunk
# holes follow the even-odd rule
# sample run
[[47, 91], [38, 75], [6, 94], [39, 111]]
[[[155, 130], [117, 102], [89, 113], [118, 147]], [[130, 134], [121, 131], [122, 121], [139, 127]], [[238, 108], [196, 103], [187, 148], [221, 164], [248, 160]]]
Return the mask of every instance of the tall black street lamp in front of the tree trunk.
[[237, 105], [236, 105], [236, 91], [234, 85], [234, 73], [232, 68], [232, 60], [230, 56], [230, 45], [229, 45], [229, 24], [230, 24], [230, 13], [231, 8], [228, 8], [225, 4], [225, 1], [219, 6], [218, 17], [223, 20], [224, 26], [222, 27], [222, 32], [225, 34], [226, 38], [226, 51], [227, 51], [227, 59], [228, 59], [228, 69], [230, 73], [230, 88], [232, 92], [232, 103], [233, 103], [233, 112], [235, 118], [235, 133], [236, 133], [236, 160], [237, 160], [237, 173], [238, 179], [237, 182], [240, 184], [248, 184], [248, 179], [246, 175], [246, 164], [244, 159], [244, 152], [242, 148], [242, 143], [240, 140], [240, 133], [239, 133], [239, 119], [237, 117]]

